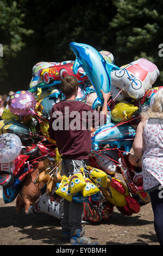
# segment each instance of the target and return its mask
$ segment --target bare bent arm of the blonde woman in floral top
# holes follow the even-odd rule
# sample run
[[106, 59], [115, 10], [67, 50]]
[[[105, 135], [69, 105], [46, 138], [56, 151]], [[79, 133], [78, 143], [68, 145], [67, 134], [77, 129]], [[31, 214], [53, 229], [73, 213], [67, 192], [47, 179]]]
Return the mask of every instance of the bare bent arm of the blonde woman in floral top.
[[136, 129], [136, 135], [135, 135], [135, 139], [133, 142], [133, 150], [136, 156], [138, 156], [140, 159], [143, 155], [143, 129], [145, 126], [145, 121], [146, 120], [142, 120], [140, 121], [139, 125], [137, 125], [137, 129]]

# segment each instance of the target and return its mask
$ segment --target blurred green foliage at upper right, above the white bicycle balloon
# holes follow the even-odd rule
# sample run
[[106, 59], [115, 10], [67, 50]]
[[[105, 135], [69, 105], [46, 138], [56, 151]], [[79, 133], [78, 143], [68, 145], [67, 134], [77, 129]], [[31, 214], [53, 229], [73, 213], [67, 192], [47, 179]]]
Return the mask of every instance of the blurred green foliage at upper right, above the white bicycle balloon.
[[163, 81], [163, 57], [159, 45], [163, 43], [163, 3], [152, 0], [114, 0], [116, 15], [110, 28], [116, 32], [115, 51], [118, 65], [127, 64], [140, 57], [151, 60]]

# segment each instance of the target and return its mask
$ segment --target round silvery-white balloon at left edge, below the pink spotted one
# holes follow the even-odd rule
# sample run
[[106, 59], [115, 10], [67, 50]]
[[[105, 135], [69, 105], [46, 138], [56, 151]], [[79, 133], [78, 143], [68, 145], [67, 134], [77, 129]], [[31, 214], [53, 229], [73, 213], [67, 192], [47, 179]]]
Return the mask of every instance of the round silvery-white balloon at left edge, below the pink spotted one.
[[12, 133], [0, 135], [0, 163], [14, 161], [22, 151], [20, 138]]

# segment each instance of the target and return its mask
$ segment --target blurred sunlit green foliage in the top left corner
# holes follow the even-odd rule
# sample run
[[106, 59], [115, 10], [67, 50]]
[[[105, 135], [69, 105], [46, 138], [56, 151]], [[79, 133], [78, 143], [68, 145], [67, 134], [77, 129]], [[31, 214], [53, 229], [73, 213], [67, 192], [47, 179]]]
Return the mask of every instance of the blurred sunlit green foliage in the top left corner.
[[0, 0], [0, 43], [3, 45], [3, 57], [0, 58], [0, 80], [7, 76], [5, 66], [12, 57], [17, 56], [25, 46], [23, 35], [33, 33], [31, 29], [23, 27], [25, 14], [21, 11], [21, 5], [16, 1]]

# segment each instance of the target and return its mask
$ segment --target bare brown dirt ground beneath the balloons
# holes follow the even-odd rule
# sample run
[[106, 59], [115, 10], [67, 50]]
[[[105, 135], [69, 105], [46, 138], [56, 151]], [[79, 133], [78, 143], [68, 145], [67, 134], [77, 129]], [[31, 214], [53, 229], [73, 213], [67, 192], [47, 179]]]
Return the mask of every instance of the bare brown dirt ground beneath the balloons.
[[[15, 201], [0, 199], [0, 245], [70, 245], [61, 240], [60, 221], [47, 214], [16, 213]], [[99, 245], [159, 245], [151, 203], [138, 214], [122, 215], [116, 208], [109, 221], [85, 224], [85, 234]]]

